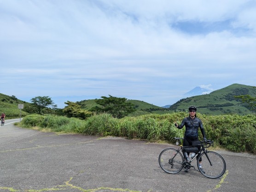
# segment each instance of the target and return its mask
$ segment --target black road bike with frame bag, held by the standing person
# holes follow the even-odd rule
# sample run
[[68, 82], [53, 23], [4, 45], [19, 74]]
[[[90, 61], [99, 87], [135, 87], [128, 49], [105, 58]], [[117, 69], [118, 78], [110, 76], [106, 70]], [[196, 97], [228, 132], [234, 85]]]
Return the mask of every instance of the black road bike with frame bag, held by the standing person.
[[[208, 151], [206, 149], [213, 145], [214, 141], [198, 141], [198, 143], [193, 144], [192, 146], [183, 147], [180, 140], [184, 138], [174, 137], [174, 139], [177, 141], [176, 145], [179, 145], [180, 147], [178, 149], [166, 148], [158, 157], [159, 165], [166, 173], [176, 174], [179, 173], [182, 168], [190, 169], [192, 167], [195, 169], [195, 166], [193, 166], [191, 162], [197, 157], [198, 170], [204, 176], [216, 179], [225, 173], [226, 162], [224, 158], [222, 158], [219, 153]], [[201, 149], [198, 150], [198, 147], [201, 147]], [[187, 152], [194, 152], [195, 155], [188, 158]], [[200, 158], [202, 158], [203, 169], [199, 169]]]

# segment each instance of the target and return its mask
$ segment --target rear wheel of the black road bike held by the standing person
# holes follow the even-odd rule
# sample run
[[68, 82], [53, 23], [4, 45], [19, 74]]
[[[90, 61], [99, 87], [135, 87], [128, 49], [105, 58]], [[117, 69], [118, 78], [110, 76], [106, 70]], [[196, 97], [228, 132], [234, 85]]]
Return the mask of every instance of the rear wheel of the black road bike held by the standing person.
[[174, 148], [164, 149], [158, 157], [160, 167], [169, 174], [179, 173], [183, 168], [183, 161], [181, 153]]

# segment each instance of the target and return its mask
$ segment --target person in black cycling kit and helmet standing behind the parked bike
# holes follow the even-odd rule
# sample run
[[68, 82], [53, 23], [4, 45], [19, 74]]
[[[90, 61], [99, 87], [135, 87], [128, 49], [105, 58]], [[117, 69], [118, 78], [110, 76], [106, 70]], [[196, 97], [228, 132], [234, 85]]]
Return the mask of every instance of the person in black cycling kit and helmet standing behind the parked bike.
[[[175, 126], [178, 129], [182, 129], [182, 127], [185, 125], [186, 130], [185, 130], [185, 135], [184, 135], [184, 140], [183, 140], [183, 146], [191, 146], [192, 142], [194, 141], [199, 141], [198, 140], [198, 129], [200, 128], [201, 133], [204, 137], [204, 141], [206, 141], [206, 136], [205, 136], [205, 131], [204, 131], [204, 126], [201, 121], [201, 119], [197, 118], [197, 107], [195, 106], [190, 106], [188, 107], [189, 111], [189, 117], [186, 117], [182, 120], [181, 124], [178, 125], [177, 122], [175, 122]], [[200, 150], [201, 147], [198, 147], [198, 150]], [[187, 152], [185, 152], [186, 155]], [[189, 153], [186, 155], [186, 159], [188, 159]], [[197, 157], [198, 158], [198, 157]], [[201, 169], [204, 172], [204, 169], [202, 168], [202, 158], [199, 159], [199, 169]], [[188, 172], [188, 169], [185, 168], [185, 172]]]

